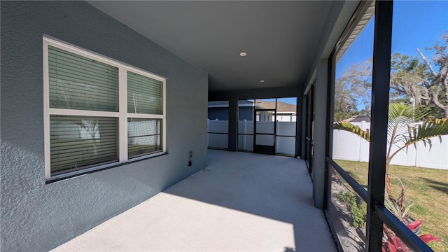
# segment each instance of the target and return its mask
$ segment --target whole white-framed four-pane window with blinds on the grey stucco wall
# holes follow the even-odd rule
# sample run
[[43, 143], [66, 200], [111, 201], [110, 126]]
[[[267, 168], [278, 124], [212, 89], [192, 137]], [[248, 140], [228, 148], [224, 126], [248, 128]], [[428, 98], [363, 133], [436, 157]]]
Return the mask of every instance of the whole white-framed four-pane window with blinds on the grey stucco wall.
[[165, 153], [166, 79], [43, 38], [45, 178]]

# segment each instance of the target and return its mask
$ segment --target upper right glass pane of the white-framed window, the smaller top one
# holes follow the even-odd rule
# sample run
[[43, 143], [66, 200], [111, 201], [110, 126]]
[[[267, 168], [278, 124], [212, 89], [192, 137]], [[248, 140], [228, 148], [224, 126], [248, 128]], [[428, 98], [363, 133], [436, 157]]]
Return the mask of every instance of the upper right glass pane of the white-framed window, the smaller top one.
[[128, 71], [127, 112], [162, 115], [162, 88], [162, 81]]

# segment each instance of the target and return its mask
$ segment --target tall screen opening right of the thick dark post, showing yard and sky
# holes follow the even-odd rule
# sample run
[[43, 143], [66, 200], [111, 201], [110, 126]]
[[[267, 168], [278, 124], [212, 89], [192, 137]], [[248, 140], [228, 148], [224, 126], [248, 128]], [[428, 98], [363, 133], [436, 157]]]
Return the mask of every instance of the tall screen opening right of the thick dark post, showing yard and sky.
[[393, 2], [386, 207], [405, 224], [423, 220], [421, 235], [442, 238], [428, 243], [434, 251], [448, 251], [448, 131], [433, 123], [448, 118], [447, 10], [448, 1]]

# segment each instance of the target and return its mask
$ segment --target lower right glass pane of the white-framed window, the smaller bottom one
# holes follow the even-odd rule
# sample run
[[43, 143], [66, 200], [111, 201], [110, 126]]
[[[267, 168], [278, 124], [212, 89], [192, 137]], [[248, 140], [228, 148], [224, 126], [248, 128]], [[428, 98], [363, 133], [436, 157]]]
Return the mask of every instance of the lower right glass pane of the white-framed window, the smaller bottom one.
[[127, 118], [129, 158], [162, 151], [160, 119]]

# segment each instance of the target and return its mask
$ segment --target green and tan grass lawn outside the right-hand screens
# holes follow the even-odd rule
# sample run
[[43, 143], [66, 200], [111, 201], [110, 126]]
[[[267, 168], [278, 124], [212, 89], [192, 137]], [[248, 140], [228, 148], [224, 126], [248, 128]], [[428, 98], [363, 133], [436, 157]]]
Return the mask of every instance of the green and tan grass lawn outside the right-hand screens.
[[[367, 162], [335, 160], [353, 179], [367, 185]], [[407, 205], [414, 204], [409, 215], [423, 220], [421, 235], [442, 238], [428, 245], [434, 251], [448, 252], [448, 170], [391, 165], [389, 173], [405, 185]], [[392, 194], [400, 193], [396, 179], [391, 178]]]

